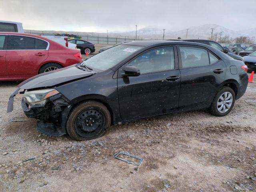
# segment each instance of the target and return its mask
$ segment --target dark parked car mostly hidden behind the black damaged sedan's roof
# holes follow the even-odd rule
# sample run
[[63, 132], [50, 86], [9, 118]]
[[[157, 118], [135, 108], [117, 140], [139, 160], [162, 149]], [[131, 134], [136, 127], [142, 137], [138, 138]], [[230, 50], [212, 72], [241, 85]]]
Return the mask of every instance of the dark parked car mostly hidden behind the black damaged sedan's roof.
[[[177, 39], [175, 39], [177, 40]], [[215, 41], [212, 40], [202, 40], [202, 39], [178, 39], [178, 41], [188, 41], [188, 42], [196, 42], [196, 43], [202, 43], [202, 44], [206, 44], [206, 45], [210, 45], [218, 50], [220, 50], [221, 52], [224, 52], [226, 54], [228, 54], [228, 56], [236, 59], [236, 60], [240, 60], [242, 62], [244, 62], [244, 59], [241, 56], [238, 56], [236, 54], [233, 54], [231, 52], [228, 52], [228, 50], [224, 49], [220, 44], [218, 44]]]

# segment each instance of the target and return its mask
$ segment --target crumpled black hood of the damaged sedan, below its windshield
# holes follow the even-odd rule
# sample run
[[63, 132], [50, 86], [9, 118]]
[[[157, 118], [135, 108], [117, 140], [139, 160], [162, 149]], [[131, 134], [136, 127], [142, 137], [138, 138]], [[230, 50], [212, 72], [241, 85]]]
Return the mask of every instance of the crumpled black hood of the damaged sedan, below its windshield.
[[88, 72], [87, 70], [78, 69], [75, 65], [42, 73], [31, 77], [18, 85], [21, 89], [34, 89], [40, 87], [53, 87], [58, 84], [92, 76], [96, 72]]

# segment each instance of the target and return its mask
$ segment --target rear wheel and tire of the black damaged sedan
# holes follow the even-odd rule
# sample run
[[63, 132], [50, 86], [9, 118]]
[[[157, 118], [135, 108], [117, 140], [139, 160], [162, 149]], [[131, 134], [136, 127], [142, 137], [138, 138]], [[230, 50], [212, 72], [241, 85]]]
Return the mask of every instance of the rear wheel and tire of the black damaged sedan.
[[224, 86], [216, 94], [210, 106], [210, 112], [215, 116], [225, 116], [233, 108], [236, 99], [234, 90]]

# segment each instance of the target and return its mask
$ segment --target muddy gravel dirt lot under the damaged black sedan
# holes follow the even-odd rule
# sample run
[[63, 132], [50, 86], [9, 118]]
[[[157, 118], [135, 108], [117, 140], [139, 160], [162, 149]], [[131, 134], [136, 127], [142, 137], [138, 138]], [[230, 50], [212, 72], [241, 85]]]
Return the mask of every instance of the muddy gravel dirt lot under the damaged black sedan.
[[[0, 191], [256, 191], [256, 83], [225, 117], [158, 116], [84, 142], [41, 135], [34, 119], [11, 122], [24, 116], [21, 95], [6, 114], [17, 84], [0, 83]], [[144, 158], [138, 170], [118, 151]]]

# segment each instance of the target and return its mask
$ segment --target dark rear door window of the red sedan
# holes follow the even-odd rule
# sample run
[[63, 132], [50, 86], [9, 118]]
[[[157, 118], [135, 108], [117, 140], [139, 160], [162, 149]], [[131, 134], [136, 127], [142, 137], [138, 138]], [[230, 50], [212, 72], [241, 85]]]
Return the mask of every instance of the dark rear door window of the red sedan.
[[8, 50], [34, 50], [36, 48], [36, 38], [9, 35]]

